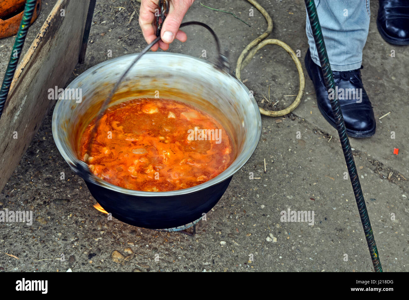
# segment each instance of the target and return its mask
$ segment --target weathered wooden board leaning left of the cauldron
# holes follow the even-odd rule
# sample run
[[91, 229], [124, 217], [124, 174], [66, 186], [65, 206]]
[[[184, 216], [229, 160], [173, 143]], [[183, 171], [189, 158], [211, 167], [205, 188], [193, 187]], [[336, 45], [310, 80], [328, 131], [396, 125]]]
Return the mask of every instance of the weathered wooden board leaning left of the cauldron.
[[0, 118], [0, 191], [56, 101], [48, 89], [63, 88], [78, 62], [89, 3], [58, 0], [16, 69]]

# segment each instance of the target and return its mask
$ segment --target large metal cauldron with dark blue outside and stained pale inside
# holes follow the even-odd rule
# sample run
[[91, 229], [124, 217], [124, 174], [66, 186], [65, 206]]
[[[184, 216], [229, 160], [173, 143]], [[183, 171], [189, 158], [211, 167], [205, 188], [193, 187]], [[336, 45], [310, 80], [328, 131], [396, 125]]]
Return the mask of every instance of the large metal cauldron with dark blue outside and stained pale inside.
[[79, 171], [79, 135], [136, 54], [113, 58], [88, 69], [67, 89], [81, 89], [82, 101], [58, 100], [52, 132], [58, 150], [81, 174], [92, 196], [122, 222], [150, 229], [178, 227], [199, 219], [222, 197], [233, 174], [252, 156], [261, 135], [258, 106], [245, 85], [205, 60], [176, 53], [146, 53], [129, 71], [109, 106], [134, 98], [171, 98], [211, 114], [229, 132], [237, 156], [224, 172], [189, 189], [168, 192], [117, 187]]

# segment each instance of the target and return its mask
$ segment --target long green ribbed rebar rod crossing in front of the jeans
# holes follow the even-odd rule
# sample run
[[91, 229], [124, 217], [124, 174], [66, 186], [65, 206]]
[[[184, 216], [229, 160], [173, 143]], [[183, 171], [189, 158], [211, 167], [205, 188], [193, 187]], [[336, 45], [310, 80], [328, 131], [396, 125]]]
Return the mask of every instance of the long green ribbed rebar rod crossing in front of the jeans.
[[[314, 36], [315, 45], [318, 51], [319, 61], [321, 62], [321, 68], [326, 88], [327, 90], [335, 90], [334, 77], [328, 60], [328, 54], [325, 48], [324, 38], [322, 36], [321, 26], [319, 24], [317, 9], [315, 7], [314, 0], [305, 0], [305, 3], [308, 18], [310, 19], [312, 34]], [[341, 141], [342, 151], [344, 151], [349, 178], [351, 178], [355, 200], [357, 202], [359, 215], [361, 217], [362, 227], [364, 228], [366, 242], [368, 243], [369, 252], [371, 253], [373, 267], [375, 271], [382, 272], [382, 266], [378, 256], [378, 249], [376, 248], [375, 239], [373, 237], [371, 222], [369, 221], [368, 211], [366, 210], [364, 195], [362, 194], [361, 184], [352, 155], [351, 145], [349, 144], [349, 139], [346, 134], [344, 117], [342, 116], [342, 111], [339, 107], [338, 96], [335, 95], [335, 99], [330, 100], [330, 102], [335, 118], [335, 123], [337, 124], [337, 131], [339, 140]]]

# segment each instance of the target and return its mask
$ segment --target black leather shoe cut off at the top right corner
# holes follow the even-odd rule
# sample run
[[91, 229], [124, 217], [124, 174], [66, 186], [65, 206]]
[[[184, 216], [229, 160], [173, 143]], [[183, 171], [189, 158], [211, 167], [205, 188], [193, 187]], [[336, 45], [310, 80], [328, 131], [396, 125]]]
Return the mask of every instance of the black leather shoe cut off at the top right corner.
[[409, 1], [379, 0], [376, 25], [382, 38], [395, 45], [409, 44]]

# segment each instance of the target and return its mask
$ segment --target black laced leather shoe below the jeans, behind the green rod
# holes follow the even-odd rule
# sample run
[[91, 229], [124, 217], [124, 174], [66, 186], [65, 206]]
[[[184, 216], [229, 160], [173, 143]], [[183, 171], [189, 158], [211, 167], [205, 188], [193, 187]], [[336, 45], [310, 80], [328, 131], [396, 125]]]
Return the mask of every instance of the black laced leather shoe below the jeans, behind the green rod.
[[337, 125], [335, 124], [329, 99], [337, 93], [348, 136], [354, 138], [373, 136], [376, 129], [375, 116], [371, 101], [369, 101], [362, 85], [360, 69], [342, 72], [333, 71], [337, 89], [328, 94], [321, 67], [312, 61], [310, 49], [307, 51], [305, 64], [308, 75], [315, 87], [318, 109], [332, 127], [336, 129]]

